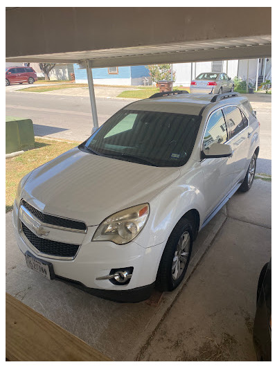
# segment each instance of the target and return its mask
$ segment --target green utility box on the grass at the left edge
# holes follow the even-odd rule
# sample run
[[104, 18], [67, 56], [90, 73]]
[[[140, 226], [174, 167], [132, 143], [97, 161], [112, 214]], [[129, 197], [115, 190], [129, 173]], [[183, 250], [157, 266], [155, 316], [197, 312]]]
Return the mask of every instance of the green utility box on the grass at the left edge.
[[6, 154], [35, 144], [31, 119], [6, 116]]

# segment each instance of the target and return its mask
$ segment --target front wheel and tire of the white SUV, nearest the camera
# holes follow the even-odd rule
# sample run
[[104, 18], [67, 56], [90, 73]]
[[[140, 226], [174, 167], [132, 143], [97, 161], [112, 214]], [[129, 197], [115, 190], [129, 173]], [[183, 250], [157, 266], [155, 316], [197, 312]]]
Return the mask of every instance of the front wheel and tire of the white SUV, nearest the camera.
[[172, 291], [184, 279], [193, 249], [193, 224], [182, 218], [173, 229], [161, 256], [156, 279], [159, 291]]

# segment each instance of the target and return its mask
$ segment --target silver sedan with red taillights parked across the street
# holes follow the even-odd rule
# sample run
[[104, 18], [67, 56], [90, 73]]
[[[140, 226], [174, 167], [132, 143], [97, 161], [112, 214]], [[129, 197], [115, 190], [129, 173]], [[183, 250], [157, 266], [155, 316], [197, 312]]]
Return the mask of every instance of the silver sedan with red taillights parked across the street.
[[200, 73], [190, 82], [190, 93], [233, 92], [234, 82], [226, 73]]

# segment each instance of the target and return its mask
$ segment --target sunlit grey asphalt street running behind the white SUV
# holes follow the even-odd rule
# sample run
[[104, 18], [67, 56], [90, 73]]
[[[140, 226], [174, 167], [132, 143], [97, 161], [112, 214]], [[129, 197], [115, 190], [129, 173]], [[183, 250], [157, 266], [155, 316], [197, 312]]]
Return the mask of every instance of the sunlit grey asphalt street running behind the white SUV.
[[[257, 172], [271, 174], [271, 98], [248, 96], [260, 121], [260, 154]], [[132, 100], [96, 98], [99, 125]], [[31, 118], [35, 136], [84, 141], [93, 126], [89, 98], [6, 89], [6, 115]]]

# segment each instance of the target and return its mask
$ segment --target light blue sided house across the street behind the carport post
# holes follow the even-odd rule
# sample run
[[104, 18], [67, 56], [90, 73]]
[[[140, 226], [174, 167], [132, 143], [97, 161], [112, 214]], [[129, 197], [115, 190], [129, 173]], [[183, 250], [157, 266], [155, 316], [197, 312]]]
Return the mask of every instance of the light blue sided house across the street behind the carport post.
[[[86, 69], [79, 69], [74, 64], [75, 82], [87, 83]], [[145, 65], [135, 66], [111, 66], [109, 68], [92, 69], [94, 84], [118, 84], [128, 86], [139, 86], [152, 84], [149, 70]]]

